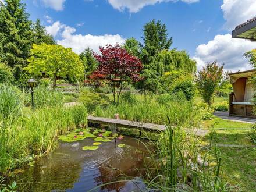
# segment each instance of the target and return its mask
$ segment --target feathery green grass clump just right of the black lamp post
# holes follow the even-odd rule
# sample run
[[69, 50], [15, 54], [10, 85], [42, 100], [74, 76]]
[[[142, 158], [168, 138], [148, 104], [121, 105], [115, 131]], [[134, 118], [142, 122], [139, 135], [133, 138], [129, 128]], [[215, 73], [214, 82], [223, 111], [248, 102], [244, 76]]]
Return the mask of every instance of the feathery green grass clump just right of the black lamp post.
[[38, 86], [34, 90], [34, 102], [36, 108], [62, 107], [64, 104], [63, 94], [55, 90], [49, 90], [45, 86]]

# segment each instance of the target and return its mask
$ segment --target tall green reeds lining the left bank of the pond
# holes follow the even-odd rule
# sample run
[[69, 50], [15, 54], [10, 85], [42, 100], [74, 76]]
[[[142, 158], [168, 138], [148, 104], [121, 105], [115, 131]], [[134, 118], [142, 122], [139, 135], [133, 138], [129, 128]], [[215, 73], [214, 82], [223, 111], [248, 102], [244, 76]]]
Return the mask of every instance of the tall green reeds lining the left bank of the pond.
[[47, 154], [56, 146], [58, 134], [87, 124], [83, 105], [44, 105], [23, 113], [21, 103], [15, 87], [0, 87], [0, 175]]

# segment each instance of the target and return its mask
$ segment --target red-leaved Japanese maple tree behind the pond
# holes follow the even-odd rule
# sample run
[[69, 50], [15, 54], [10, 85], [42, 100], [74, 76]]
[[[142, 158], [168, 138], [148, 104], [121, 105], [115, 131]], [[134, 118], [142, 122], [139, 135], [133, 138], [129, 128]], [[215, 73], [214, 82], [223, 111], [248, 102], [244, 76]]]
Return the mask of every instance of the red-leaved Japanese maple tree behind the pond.
[[120, 45], [99, 47], [101, 54], [94, 54], [99, 62], [98, 69], [91, 77], [101, 77], [111, 86], [114, 102], [119, 102], [119, 96], [126, 81], [135, 83], [140, 80], [142, 64], [136, 56], [130, 55]]

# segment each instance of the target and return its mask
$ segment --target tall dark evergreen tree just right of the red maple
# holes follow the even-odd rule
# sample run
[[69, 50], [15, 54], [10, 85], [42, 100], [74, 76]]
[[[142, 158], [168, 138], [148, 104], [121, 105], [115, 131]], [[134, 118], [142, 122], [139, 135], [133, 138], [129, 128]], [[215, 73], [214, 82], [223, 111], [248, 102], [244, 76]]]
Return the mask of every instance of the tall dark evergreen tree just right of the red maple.
[[172, 37], [168, 37], [166, 25], [159, 20], [145, 24], [143, 29], [144, 44], [141, 49], [140, 59], [143, 62], [141, 76], [143, 80], [138, 83], [138, 87], [146, 93], [147, 91], [158, 92], [160, 89], [159, 76], [162, 72], [162, 63], [157, 61], [158, 53], [168, 50], [172, 45]]

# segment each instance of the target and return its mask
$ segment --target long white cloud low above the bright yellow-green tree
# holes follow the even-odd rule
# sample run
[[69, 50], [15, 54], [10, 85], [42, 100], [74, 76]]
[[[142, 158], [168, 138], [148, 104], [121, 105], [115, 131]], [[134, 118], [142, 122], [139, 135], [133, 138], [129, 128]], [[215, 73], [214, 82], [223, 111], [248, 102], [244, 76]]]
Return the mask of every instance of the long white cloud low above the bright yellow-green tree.
[[72, 48], [77, 54], [83, 52], [87, 47], [93, 49], [94, 52], [98, 52], [99, 46], [125, 43], [125, 38], [121, 37], [119, 34], [75, 34], [76, 29], [74, 27], [66, 26], [66, 24], [62, 24], [59, 21], [55, 22], [51, 26], [45, 27], [45, 29], [47, 30], [47, 33], [54, 37], [61, 37], [61, 39], [56, 40], [58, 44]]

